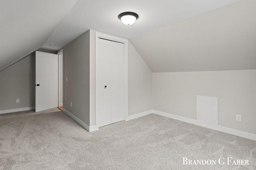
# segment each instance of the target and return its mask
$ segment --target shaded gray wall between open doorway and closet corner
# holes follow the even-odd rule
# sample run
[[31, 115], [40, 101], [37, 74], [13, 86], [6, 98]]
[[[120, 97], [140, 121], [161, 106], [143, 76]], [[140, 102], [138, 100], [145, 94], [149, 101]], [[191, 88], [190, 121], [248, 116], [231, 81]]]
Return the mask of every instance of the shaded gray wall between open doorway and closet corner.
[[[90, 33], [64, 48], [64, 109], [90, 125]], [[68, 77], [68, 82], [66, 82]], [[70, 106], [72, 102], [72, 107]]]

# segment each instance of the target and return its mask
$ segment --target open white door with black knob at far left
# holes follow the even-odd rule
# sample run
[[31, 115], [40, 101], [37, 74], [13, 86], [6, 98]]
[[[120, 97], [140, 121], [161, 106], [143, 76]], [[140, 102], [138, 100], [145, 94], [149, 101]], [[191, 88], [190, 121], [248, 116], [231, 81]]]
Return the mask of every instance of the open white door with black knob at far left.
[[36, 51], [36, 112], [58, 107], [58, 55]]

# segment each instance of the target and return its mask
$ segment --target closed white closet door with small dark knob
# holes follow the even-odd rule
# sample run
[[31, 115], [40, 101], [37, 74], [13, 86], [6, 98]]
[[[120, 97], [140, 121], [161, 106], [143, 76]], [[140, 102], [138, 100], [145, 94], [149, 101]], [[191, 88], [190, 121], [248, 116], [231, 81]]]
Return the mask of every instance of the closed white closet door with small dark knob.
[[105, 126], [124, 120], [124, 44], [98, 41], [96, 57], [96, 121]]

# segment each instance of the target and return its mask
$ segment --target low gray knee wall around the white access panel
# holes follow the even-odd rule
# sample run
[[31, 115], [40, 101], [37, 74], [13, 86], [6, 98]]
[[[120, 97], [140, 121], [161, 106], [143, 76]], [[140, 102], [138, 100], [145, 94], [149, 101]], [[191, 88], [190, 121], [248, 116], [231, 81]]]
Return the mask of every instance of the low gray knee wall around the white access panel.
[[255, 87], [256, 70], [153, 73], [154, 109], [196, 119], [196, 95], [214, 96], [220, 126], [256, 134]]

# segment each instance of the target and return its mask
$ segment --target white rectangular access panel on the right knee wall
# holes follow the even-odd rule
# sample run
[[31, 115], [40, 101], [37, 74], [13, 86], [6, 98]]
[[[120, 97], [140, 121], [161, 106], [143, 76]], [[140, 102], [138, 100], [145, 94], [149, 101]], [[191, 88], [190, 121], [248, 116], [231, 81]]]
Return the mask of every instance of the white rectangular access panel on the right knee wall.
[[196, 96], [196, 119], [205, 123], [218, 125], [218, 98]]

